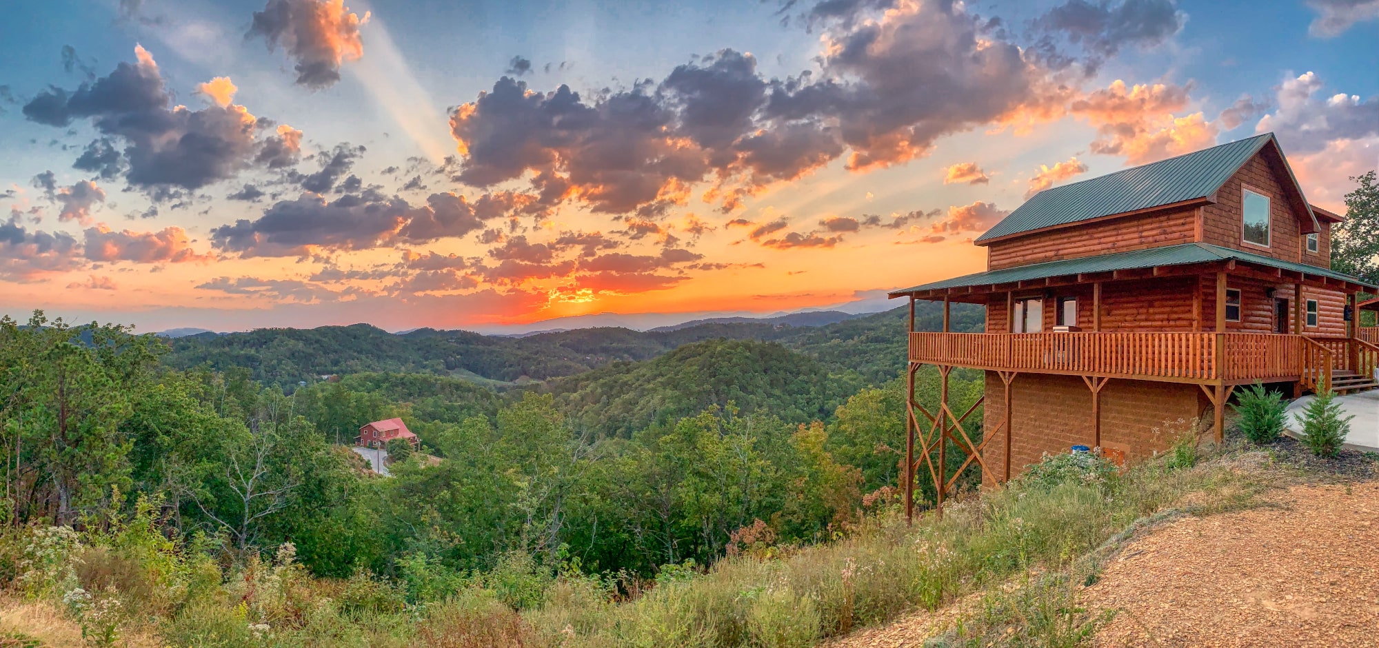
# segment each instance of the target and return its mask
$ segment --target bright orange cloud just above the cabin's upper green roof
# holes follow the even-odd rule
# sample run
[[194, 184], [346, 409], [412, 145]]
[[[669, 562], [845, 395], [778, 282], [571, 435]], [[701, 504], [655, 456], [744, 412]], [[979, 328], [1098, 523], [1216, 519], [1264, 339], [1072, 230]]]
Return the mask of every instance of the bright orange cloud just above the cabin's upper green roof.
[[1071, 102], [1069, 112], [1096, 127], [1092, 153], [1123, 156], [1128, 164], [1146, 164], [1191, 153], [1216, 142], [1220, 128], [1202, 113], [1182, 117], [1189, 88], [1172, 84], [1127, 85], [1117, 79]]

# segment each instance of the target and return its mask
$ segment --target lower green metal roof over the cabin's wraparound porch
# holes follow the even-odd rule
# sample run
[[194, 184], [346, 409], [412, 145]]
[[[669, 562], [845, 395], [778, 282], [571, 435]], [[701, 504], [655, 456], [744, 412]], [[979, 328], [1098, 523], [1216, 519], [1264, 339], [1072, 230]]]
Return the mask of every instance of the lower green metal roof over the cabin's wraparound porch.
[[1339, 281], [1376, 288], [1360, 279], [1332, 272], [1325, 267], [1278, 261], [1242, 250], [1223, 248], [1207, 243], [1183, 243], [1179, 245], [1165, 245], [1149, 250], [1135, 250], [1132, 252], [1114, 252], [1098, 256], [1084, 256], [1080, 259], [1049, 261], [1027, 266], [1005, 267], [1001, 270], [979, 272], [964, 277], [946, 279], [932, 284], [916, 285], [913, 288], [891, 291], [889, 296], [902, 296], [909, 292], [921, 292], [939, 288], [965, 288], [971, 285], [1008, 284], [1014, 281], [1030, 281], [1036, 279], [1066, 277], [1069, 274], [1092, 274], [1111, 270], [1136, 270], [1156, 266], [1180, 266], [1190, 263], [1211, 263], [1216, 261], [1240, 261], [1267, 267], [1280, 267], [1289, 272], [1300, 272], [1316, 277], [1329, 277]]

